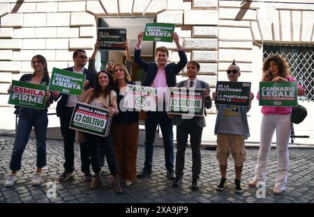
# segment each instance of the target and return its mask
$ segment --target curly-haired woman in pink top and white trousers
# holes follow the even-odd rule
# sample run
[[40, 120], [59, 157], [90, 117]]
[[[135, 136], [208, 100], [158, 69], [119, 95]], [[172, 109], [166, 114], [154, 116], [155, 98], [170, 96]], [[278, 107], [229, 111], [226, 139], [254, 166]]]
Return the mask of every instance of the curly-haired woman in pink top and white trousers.
[[[262, 81], [296, 81], [291, 77], [289, 66], [281, 56], [269, 56], [263, 63]], [[304, 95], [304, 89], [298, 83], [298, 95]], [[257, 99], [259, 94], [257, 93]], [[287, 172], [289, 170], [288, 143], [290, 138], [292, 107], [262, 106], [262, 124], [260, 129], [260, 151], [255, 167], [255, 176], [248, 183], [256, 187], [257, 182], [265, 182], [268, 156], [271, 150], [271, 140], [276, 130], [276, 150], [278, 166], [273, 193], [281, 195], [287, 184]]]

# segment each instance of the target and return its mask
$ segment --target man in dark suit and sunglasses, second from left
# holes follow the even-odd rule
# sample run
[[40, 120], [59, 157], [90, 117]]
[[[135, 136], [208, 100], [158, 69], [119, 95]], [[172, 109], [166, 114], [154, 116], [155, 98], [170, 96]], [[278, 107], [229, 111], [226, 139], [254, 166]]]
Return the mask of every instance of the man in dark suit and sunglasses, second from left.
[[[86, 52], [83, 49], [77, 49], [73, 53], [73, 67], [68, 67], [64, 70], [70, 72], [86, 74], [84, 81], [84, 89], [91, 88], [94, 86], [94, 81], [96, 74], [84, 68], [84, 65], [87, 63]], [[75, 103], [77, 102], [78, 96], [75, 95], [66, 95], [61, 94], [58, 91], [53, 91], [52, 96], [57, 101], [57, 116], [60, 117], [61, 124], [61, 134], [63, 137], [63, 147], [64, 147], [64, 159], [63, 163], [64, 171], [59, 176], [59, 181], [66, 181], [69, 177], [73, 176], [74, 171], [74, 141], [75, 141], [75, 130], [69, 128], [70, 118], [73, 113]], [[89, 170], [90, 161], [89, 161], [89, 152], [87, 150], [86, 143], [80, 143], [80, 152], [81, 152], [81, 170], [84, 173], [84, 179], [89, 181], [91, 180], [91, 172]]]

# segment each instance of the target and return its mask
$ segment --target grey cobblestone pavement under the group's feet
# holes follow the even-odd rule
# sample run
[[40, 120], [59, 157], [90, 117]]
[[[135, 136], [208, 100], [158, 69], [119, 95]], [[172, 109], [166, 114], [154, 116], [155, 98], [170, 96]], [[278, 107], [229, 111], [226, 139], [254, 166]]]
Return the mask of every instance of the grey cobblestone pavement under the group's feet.
[[[36, 141], [29, 140], [23, 154], [22, 170], [12, 188], [4, 187], [9, 174], [10, 154], [13, 147], [13, 137], [0, 137], [0, 202], [115, 202], [115, 203], [274, 203], [274, 202], [314, 202], [314, 150], [290, 149], [290, 171], [287, 188], [283, 195], [273, 195], [276, 173], [276, 150], [271, 150], [267, 169], [266, 197], [257, 198], [257, 188], [248, 187], [247, 183], [253, 177], [257, 160], [257, 149], [247, 150], [247, 160], [244, 163], [242, 183], [244, 193], [236, 194], [234, 188], [234, 169], [230, 161], [230, 184], [225, 191], [215, 190], [220, 173], [216, 154], [213, 150], [202, 150], [202, 174], [200, 175], [200, 190], [192, 191], [191, 184], [191, 151], [186, 150], [186, 169], [184, 180], [179, 188], [173, 188], [172, 182], [165, 177], [163, 147], [154, 149], [154, 168], [150, 178], [135, 179], [130, 186], [122, 185], [123, 193], [114, 193], [109, 172], [103, 173], [102, 184], [96, 190], [89, 188], [89, 182], [82, 179], [80, 171], [80, 151], [75, 145], [75, 175], [66, 182], [58, 182], [57, 177], [63, 172], [63, 143], [61, 140], [47, 140], [47, 166], [43, 169], [45, 182], [40, 186], [31, 186], [31, 178], [36, 168]], [[138, 148], [137, 171], [142, 169], [144, 162], [144, 147]], [[53, 191], [57, 188], [57, 191]], [[53, 192], [55, 195], [53, 195]]]

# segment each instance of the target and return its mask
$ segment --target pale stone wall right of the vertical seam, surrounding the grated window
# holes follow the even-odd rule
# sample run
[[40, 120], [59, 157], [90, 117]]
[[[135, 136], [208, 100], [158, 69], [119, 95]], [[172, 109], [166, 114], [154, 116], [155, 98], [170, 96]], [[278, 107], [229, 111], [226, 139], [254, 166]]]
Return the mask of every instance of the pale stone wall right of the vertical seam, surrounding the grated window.
[[[257, 93], [262, 74], [262, 45], [264, 43], [314, 45], [314, 2], [300, 1], [219, 1], [218, 25], [218, 80], [226, 80], [225, 70], [232, 59], [241, 68], [239, 81], [251, 81]], [[294, 126], [296, 135], [310, 136], [298, 139], [313, 144], [314, 131], [306, 126], [314, 121], [313, 102], [301, 102], [308, 109], [305, 122]], [[260, 140], [260, 106], [253, 100], [248, 113], [251, 131], [249, 141]], [[213, 129], [207, 132], [210, 134]], [[214, 139], [214, 137], [213, 137]], [[273, 142], [276, 142], [276, 136]]]

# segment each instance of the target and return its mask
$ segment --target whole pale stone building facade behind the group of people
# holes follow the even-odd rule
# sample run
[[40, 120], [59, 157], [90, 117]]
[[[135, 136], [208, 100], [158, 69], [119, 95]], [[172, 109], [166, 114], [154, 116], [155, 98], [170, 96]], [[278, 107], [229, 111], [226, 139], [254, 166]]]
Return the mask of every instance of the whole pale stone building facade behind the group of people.
[[[0, 0], [0, 114], [4, 120], [0, 129], [14, 129], [6, 90], [12, 79], [32, 72], [30, 58], [42, 54], [51, 72], [52, 67], [73, 65], [75, 49], [85, 49], [90, 56], [100, 17], [152, 17], [176, 24], [188, 60], [200, 62], [200, 78], [212, 90], [217, 80], [227, 79], [225, 70], [236, 59], [240, 81], [251, 81], [257, 93], [265, 43], [314, 45], [313, 0]], [[170, 49], [170, 61], [178, 61], [173, 43], [156, 42], [160, 45]], [[178, 76], [182, 79], [184, 72]], [[313, 123], [313, 101], [303, 104], [309, 111], [306, 122]], [[216, 115], [214, 109], [210, 112], [204, 134], [214, 140]], [[259, 140], [260, 118], [255, 100], [249, 116], [252, 141]], [[52, 122], [59, 123], [53, 118]], [[297, 129], [306, 130], [306, 122]], [[307, 134], [313, 138], [312, 132]]]

